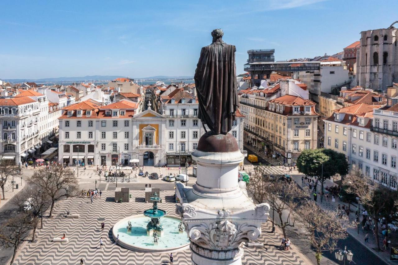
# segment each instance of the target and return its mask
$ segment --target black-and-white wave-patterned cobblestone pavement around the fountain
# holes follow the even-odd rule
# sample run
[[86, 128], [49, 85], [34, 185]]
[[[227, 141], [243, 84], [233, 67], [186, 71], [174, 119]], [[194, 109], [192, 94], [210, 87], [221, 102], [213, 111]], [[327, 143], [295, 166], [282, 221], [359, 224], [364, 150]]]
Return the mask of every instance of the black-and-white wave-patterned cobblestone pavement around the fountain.
[[[111, 191], [103, 191], [101, 199], [90, 203], [87, 198], [69, 198], [59, 201], [54, 209], [54, 218], [44, 220], [44, 228], [37, 230], [37, 241], [26, 243], [18, 252], [14, 264], [169, 264], [167, 253], [140, 253], [124, 249], [113, 244], [111, 228], [118, 220], [140, 214], [152, 207], [150, 203], [142, 203], [144, 191], [132, 191], [133, 198], [129, 203], [114, 203]], [[161, 191], [163, 203], [159, 208], [176, 216], [176, 204], [173, 203], [173, 191]], [[138, 201], [138, 202], [137, 202]], [[80, 214], [79, 218], [65, 218], [66, 211]], [[105, 229], [101, 232], [98, 218], [105, 218]], [[271, 230], [269, 222], [263, 225], [263, 234], [259, 242], [267, 244], [264, 248], [245, 248], [243, 264], [300, 264], [304, 261], [292, 249], [281, 251], [279, 246], [281, 236], [277, 233], [268, 234]], [[65, 233], [67, 243], [51, 242], [54, 237]], [[100, 237], [105, 238], [103, 249], [99, 248]], [[190, 250], [173, 253], [174, 264], [191, 264]]]

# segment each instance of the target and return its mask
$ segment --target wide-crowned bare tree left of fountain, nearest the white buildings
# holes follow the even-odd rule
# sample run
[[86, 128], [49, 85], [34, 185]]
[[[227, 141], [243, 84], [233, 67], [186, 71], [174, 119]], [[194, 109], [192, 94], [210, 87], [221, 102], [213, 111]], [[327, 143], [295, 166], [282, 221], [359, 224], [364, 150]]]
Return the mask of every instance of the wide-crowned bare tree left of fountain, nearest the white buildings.
[[33, 173], [30, 183], [46, 193], [51, 199], [49, 217], [53, 214], [55, 201], [65, 194], [70, 196], [78, 195], [78, 181], [69, 168], [62, 165], [53, 165], [51, 168], [42, 168]]

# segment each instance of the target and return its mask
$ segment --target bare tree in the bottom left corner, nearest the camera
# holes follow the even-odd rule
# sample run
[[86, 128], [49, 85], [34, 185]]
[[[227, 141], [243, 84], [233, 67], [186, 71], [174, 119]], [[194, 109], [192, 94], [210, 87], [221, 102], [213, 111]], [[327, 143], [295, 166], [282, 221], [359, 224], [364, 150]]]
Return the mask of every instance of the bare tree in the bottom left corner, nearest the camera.
[[35, 226], [30, 213], [21, 213], [10, 218], [7, 224], [0, 230], [0, 242], [5, 247], [14, 247], [14, 253], [10, 264], [14, 259], [20, 244], [31, 236], [32, 228]]

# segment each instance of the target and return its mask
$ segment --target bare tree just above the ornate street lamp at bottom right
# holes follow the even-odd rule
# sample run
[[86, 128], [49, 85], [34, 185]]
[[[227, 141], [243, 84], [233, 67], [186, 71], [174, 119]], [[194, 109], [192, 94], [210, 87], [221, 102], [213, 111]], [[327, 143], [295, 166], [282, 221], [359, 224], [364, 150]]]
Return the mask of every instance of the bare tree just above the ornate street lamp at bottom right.
[[337, 242], [347, 237], [347, 228], [355, 227], [354, 222], [349, 222], [347, 216], [338, 216], [337, 212], [322, 210], [313, 201], [301, 205], [297, 213], [304, 235], [315, 249], [316, 263], [320, 265], [322, 252], [333, 251]]

